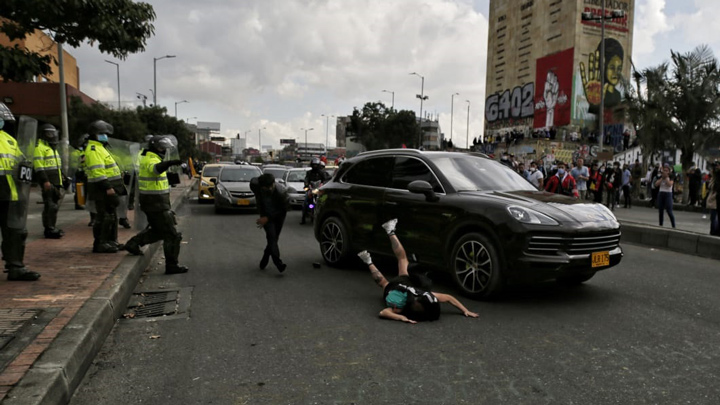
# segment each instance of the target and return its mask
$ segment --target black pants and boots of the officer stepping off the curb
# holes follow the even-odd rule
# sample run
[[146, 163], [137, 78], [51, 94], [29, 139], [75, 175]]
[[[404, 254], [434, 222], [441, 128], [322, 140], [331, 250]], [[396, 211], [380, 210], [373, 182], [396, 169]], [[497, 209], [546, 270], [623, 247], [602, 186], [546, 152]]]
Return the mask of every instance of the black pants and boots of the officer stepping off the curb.
[[148, 220], [148, 226], [133, 236], [127, 244], [137, 246], [149, 245], [159, 240], [163, 241], [165, 253], [165, 267], [176, 267], [180, 256], [180, 242], [182, 234], [175, 225], [175, 213], [172, 211], [143, 211]]

